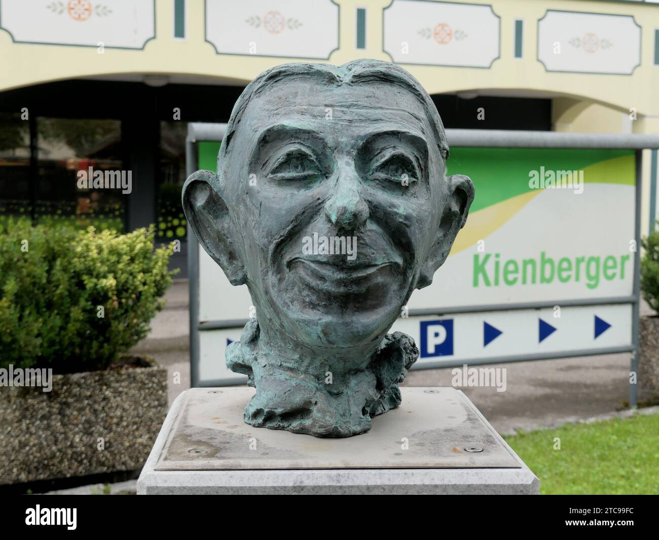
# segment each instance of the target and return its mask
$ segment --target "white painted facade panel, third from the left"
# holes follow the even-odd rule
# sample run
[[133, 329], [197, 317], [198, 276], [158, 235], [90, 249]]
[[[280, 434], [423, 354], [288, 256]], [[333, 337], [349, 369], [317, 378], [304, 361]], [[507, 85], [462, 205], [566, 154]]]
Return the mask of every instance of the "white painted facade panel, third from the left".
[[490, 5], [393, 0], [382, 40], [397, 63], [490, 67], [500, 53], [500, 18]]

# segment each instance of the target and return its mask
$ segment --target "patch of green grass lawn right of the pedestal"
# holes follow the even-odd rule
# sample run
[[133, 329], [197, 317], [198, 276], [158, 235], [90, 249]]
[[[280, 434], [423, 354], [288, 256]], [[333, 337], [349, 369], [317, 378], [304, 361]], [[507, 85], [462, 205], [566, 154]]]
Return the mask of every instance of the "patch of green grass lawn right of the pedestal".
[[[560, 450], [554, 450], [555, 438]], [[659, 415], [520, 433], [506, 442], [541, 494], [659, 494]]]

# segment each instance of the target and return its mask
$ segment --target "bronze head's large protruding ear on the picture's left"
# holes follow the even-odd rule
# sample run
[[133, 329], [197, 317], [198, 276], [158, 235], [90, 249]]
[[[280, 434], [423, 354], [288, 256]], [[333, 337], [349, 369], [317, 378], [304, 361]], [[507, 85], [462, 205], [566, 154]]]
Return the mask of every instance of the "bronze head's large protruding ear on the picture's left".
[[223, 269], [231, 285], [243, 285], [245, 269], [235, 249], [229, 210], [219, 193], [216, 174], [208, 170], [190, 174], [183, 185], [183, 211], [194, 236]]

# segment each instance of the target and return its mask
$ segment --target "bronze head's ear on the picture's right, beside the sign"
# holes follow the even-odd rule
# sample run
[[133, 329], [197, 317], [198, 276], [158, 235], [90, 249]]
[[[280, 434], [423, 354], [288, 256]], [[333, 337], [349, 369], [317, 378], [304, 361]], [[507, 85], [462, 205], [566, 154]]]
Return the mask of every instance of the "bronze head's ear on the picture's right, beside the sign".
[[444, 264], [457, 233], [465, 226], [469, 207], [474, 200], [474, 184], [469, 176], [454, 174], [446, 178], [446, 185], [448, 201], [432, 248], [422, 262], [416, 288], [428, 287], [432, 283], [432, 276]]

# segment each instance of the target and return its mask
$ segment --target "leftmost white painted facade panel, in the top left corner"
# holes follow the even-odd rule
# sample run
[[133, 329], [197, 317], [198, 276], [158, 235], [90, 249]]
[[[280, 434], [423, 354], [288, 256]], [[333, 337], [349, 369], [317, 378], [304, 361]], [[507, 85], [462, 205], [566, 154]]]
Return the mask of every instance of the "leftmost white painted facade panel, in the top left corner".
[[2, 0], [14, 42], [142, 49], [156, 36], [154, 0]]

